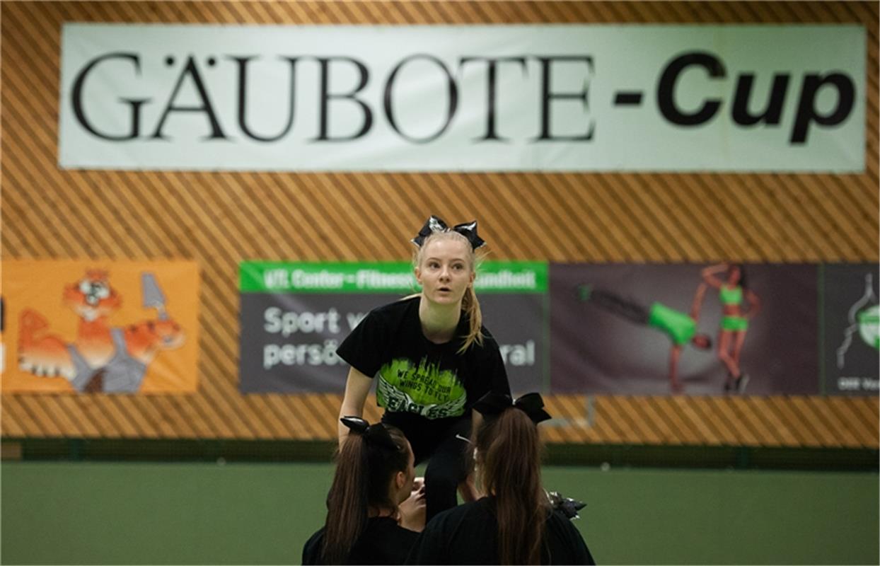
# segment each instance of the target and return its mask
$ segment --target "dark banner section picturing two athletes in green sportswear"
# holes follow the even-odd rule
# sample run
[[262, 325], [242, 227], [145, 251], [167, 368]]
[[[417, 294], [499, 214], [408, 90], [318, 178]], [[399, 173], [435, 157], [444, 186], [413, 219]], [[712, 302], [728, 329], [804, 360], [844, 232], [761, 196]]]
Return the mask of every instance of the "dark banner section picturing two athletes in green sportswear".
[[[692, 325], [694, 298], [710, 267], [553, 264], [554, 393], [671, 393], [679, 343], [676, 371], [684, 393], [819, 393], [817, 266], [746, 264], [745, 288], [759, 302], [757, 313], [744, 322], [725, 317], [722, 301], [737, 297], [707, 286]], [[743, 312], [752, 309], [750, 297], [738, 297]], [[700, 334], [711, 339], [710, 348], [700, 348]], [[731, 359], [747, 376], [739, 391], [730, 388]]]

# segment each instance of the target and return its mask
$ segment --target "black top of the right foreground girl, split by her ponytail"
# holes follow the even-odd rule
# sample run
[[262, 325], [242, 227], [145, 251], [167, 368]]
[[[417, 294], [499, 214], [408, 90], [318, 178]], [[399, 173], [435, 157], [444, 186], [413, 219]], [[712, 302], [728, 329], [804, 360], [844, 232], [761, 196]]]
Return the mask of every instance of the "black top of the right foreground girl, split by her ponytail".
[[[432, 520], [407, 557], [407, 564], [499, 564], [495, 500], [483, 497], [444, 511]], [[559, 511], [544, 525], [542, 564], [595, 564], [581, 533]]]

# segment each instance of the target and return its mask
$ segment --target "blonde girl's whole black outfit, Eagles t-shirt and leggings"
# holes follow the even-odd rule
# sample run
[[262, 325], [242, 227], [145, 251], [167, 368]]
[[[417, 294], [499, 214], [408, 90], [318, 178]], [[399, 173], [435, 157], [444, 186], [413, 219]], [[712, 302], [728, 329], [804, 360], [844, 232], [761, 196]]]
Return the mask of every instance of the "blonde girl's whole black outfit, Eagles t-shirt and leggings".
[[458, 504], [458, 482], [466, 477], [465, 450], [471, 406], [489, 391], [510, 394], [507, 371], [492, 334], [481, 328], [483, 345], [458, 349], [468, 332], [462, 313], [450, 342], [435, 344], [422, 334], [421, 298], [370, 311], [336, 354], [368, 377], [378, 375], [376, 398], [384, 423], [398, 427], [425, 470], [427, 518]]

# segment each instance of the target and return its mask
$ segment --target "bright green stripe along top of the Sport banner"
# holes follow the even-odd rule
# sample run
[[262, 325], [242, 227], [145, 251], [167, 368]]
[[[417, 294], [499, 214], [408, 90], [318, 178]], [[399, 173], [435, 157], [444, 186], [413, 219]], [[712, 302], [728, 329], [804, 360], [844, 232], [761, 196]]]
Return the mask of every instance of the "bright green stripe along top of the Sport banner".
[[[243, 261], [239, 290], [256, 293], [410, 293], [419, 290], [408, 261]], [[484, 261], [480, 293], [546, 293], [546, 261]]]

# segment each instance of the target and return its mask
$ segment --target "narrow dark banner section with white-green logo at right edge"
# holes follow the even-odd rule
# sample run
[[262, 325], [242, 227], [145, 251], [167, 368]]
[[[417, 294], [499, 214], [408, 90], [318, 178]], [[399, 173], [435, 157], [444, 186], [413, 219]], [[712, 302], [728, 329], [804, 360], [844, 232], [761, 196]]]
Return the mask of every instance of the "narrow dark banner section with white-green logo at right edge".
[[824, 392], [880, 390], [880, 292], [876, 263], [820, 267]]

